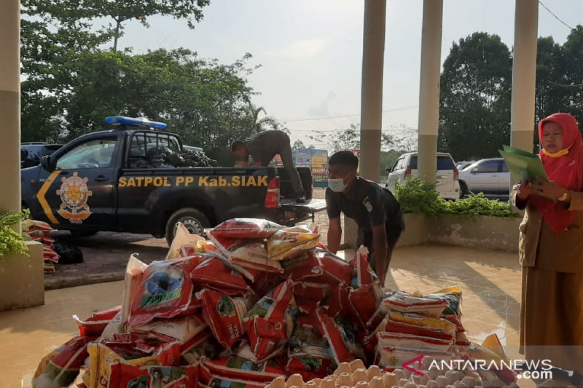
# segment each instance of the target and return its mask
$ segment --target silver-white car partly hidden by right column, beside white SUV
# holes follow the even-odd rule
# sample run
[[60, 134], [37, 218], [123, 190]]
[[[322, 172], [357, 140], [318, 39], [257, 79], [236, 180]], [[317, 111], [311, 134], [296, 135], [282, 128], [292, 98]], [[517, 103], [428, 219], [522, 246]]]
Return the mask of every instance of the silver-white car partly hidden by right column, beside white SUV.
[[482, 159], [459, 172], [462, 196], [468, 193], [501, 194], [510, 192], [510, 170], [502, 158]]

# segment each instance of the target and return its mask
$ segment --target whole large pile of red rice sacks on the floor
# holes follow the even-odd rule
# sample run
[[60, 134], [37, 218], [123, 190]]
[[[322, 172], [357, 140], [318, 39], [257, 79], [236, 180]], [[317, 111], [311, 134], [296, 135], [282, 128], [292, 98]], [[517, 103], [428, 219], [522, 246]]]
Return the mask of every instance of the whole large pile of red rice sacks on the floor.
[[259, 219], [207, 235], [179, 225], [166, 260], [132, 255], [121, 306], [73, 316], [79, 336], [40, 362], [33, 386], [259, 388], [356, 359], [460, 357], [469, 345], [459, 289], [382, 291], [364, 247], [345, 261], [318, 230]]

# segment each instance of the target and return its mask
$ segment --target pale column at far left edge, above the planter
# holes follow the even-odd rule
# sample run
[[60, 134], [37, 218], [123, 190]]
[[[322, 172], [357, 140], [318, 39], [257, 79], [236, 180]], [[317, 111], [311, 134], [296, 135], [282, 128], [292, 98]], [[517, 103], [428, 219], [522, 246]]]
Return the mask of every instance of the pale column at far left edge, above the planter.
[[20, 211], [20, 0], [0, 1], [0, 37], [0, 211]]

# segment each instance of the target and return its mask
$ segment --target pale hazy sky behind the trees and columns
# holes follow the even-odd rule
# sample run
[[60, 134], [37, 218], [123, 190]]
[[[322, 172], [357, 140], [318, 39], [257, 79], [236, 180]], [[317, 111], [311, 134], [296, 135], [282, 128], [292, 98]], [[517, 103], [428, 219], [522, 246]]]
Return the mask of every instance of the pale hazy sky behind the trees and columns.
[[[583, 24], [583, 1], [543, 0], [571, 27]], [[444, 0], [441, 60], [452, 42], [476, 31], [514, 42], [514, 0]], [[422, 0], [387, 0], [382, 129], [417, 128]], [[254, 98], [285, 122], [291, 140], [314, 143], [316, 130], [360, 122], [364, 0], [210, 0], [194, 30], [184, 20], [151, 17], [150, 28], [127, 24], [121, 47], [135, 53], [184, 47], [201, 58], [232, 63], [245, 53]], [[570, 29], [539, 6], [539, 36], [563, 43]], [[338, 117], [342, 116], [342, 117]], [[327, 119], [322, 119], [327, 118]]]

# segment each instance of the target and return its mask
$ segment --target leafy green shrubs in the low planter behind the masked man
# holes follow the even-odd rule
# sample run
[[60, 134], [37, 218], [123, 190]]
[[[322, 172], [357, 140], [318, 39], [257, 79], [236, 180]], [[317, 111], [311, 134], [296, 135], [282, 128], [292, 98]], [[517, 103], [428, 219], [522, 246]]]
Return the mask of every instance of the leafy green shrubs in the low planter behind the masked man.
[[403, 213], [424, 213], [431, 216], [452, 214], [466, 217], [515, 217], [509, 204], [489, 200], [484, 194], [457, 201], [445, 201], [435, 185], [420, 178], [409, 178], [404, 185], [397, 183], [395, 197]]

